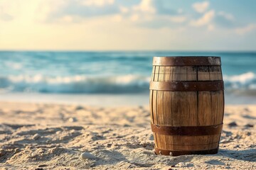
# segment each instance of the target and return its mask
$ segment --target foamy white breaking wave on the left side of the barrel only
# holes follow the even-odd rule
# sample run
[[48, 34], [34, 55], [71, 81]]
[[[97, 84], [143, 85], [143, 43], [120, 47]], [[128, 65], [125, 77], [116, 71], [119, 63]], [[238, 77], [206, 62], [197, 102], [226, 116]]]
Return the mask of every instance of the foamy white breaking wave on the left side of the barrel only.
[[148, 91], [149, 77], [43, 77], [19, 75], [0, 77], [0, 91], [33, 91], [41, 93], [138, 93]]

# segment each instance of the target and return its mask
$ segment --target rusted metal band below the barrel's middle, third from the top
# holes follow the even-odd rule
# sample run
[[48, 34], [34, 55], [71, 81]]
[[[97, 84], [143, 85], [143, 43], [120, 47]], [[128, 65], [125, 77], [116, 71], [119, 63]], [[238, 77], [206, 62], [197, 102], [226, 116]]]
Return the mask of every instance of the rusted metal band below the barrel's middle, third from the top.
[[210, 126], [159, 126], [151, 123], [151, 130], [160, 135], [188, 135], [188, 136], [201, 136], [201, 135], [217, 135], [220, 134], [223, 128], [223, 123], [219, 125]]

